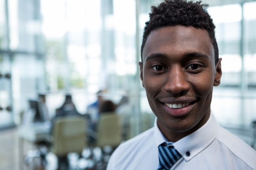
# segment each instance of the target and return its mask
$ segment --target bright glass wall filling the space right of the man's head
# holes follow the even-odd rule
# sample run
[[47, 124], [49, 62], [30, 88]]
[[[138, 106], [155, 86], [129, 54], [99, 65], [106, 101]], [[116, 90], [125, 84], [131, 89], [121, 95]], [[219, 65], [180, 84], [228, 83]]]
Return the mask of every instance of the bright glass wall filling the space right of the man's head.
[[210, 7], [222, 58], [221, 84], [213, 91], [211, 108], [223, 126], [246, 126], [256, 119], [255, 2]]

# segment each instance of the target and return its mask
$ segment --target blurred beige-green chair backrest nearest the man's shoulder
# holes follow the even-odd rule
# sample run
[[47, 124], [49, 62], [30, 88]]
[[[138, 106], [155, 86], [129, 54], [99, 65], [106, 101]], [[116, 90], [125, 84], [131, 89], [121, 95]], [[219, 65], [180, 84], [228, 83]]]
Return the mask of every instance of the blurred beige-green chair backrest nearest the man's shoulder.
[[121, 117], [115, 113], [101, 114], [97, 126], [96, 146], [118, 146], [122, 141]]

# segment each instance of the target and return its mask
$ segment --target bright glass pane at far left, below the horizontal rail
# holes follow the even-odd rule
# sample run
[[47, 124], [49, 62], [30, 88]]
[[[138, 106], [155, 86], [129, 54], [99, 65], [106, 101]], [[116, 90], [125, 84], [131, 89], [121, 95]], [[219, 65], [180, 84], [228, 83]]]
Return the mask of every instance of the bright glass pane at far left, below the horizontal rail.
[[38, 99], [46, 92], [45, 66], [35, 55], [17, 54], [12, 60], [13, 116], [20, 123], [20, 114], [29, 108], [29, 99]]

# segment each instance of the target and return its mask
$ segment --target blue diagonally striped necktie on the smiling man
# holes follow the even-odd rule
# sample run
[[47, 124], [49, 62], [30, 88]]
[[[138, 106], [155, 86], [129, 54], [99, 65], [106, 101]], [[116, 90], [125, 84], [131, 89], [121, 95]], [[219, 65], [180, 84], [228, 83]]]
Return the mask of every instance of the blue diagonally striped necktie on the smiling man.
[[159, 165], [157, 170], [170, 170], [171, 166], [182, 156], [173, 146], [158, 146]]

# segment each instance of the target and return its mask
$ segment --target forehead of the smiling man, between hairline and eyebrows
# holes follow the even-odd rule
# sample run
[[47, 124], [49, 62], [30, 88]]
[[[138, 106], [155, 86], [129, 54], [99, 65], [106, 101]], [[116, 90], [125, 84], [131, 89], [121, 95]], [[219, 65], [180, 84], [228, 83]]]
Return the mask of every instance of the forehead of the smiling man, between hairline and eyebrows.
[[192, 26], [166, 26], [152, 31], [146, 40], [142, 60], [145, 61], [147, 56], [154, 53], [175, 56], [202, 53], [214, 60], [214, 49], [208, 32]]

